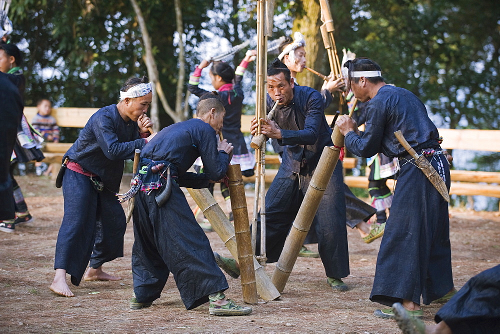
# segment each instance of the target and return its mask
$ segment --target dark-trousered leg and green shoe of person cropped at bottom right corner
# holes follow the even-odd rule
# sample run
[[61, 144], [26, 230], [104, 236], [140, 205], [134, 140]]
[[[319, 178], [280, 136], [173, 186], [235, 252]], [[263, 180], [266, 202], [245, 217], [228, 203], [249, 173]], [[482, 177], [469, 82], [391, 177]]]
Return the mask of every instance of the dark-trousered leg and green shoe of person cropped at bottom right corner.
[[400, 303], [392, 306], [404, 334], [495, 333], [500, 329], [500, 265], [470, 278], [434, 315], [437, 324], [425, 325]]

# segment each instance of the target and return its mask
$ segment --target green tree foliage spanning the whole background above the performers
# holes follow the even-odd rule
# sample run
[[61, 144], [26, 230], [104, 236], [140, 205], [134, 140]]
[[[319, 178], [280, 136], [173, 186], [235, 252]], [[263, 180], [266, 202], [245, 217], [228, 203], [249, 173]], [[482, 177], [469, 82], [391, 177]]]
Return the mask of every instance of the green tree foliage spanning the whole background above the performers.
[[[169, 103], [175, 101], [179, 43], [184, 43], [184, 70], [190, 73], [214, 52], [201, 48], [203, 42], [216, 36], [227, 41], [224, 47], [236, 45], [253, 38], [256, 28], [255, 1], [180, 4], [181, 34], [171, 1], [138, 1]], [[308, 39], [308, 66], [326, 73], [318, 8], [317, 0], [276, 0], [273, 38], [300, 29]], [[441, 116], [444, 123], [438, 126], [498, 128], [500, 3], [338, 0], [330, 1], [330, 8], [337, 49], [377, 61], [386, 82], [412, 91]], [[57, 106], [101, 107], [116, 102], [128, 76], [146, 74], [141, 33], [126, 0], [14, 0], [9, 17], [12, 42], [26, 51], [28, 106], [49, 97]], [[301, 82], [320, 86], [318, 78], [303, 76]], [[161, 125], [168, 125], [171, 120], [161, 115]]]

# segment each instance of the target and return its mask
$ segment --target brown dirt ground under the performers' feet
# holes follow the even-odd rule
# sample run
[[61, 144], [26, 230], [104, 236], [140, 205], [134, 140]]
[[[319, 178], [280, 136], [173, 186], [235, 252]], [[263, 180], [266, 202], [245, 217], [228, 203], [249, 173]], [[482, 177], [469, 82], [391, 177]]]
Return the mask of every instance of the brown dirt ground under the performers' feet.
[[[84, 282], [70, 286], [74, 298], [60, 297], [48, 289], [54, 275], [57, 231], [63, 215], [60, 189], [44, 177], [17, 177], [35, 222], [18, 226], [14, 233], [0, 232], [0, 330], [18, 332], [220, 332], [220, 331], [328, 331], [397, 332], [393, 320], [373, 317], [381, 305], [368, 299], [380, 239], [365, 244], [358, 232], [348, 230], [350, 272], [344, 280], [349, 290], [333, 292], [326, 284], [319, 259], [298, 258], [278, 300], [253, 306], [252, 314], [239, 317], [208, 315], [208, 305], [187, 311], [170, 277], [161, 298], [149, 308], [130, 310], [132, 295], [130, 253], [132, 225], [125, 234], [124, 257], [106, 263], [105, 271], [123, 277], [117, 282]], [[216, 199], [222, 197], [216, 187]], [[188, 197], [189, 203], [194, 206]], [[253, 202], [248, 192], [248, 205]], [[225, 206], [222, 206], [225, 208]], [[250, 210], [251, 212], [251, 210]], [[461, 287], [471, 276], [499, 262], [498, 212], [450, 210], [453, 277]], [[230, 255], [215, 232], [207, 233], [212, 248]], [[312, 245], [311, 248], [314, 248]], [[400, 251], [404, 256], [404, 250]], [[270, 275], [274, 266], [268, 265]], [[227, 276], [228, 297], [242, 303], [238, 279]], [[433, 323], [439, 304], [423, 306], [424, 320]]]

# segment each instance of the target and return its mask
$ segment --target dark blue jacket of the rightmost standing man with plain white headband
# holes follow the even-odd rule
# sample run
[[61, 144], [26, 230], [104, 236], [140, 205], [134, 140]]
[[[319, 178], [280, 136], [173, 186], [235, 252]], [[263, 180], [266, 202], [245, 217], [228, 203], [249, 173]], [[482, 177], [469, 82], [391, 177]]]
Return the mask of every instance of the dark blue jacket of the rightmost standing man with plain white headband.
[[401, 130], [406, 141], [415, 149], [428, 141], [437, 144], [439, 134], [427, 116], [425, 106], [404, 88], [381, 87], [368, 103], [366, 115], [366, 128], [361, 137], [353, 131], [345, 135], [345, 147], [358, 157], [369, 158], [376, 153], [390, 158], [407, 155], [394, 136], [397, 130]]

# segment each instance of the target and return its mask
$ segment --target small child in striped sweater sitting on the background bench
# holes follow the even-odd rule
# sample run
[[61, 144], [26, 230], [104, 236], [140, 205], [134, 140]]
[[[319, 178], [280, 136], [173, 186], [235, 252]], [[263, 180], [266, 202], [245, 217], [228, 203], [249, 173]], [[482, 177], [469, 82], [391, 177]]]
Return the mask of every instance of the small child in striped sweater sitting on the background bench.
[[[52, 111], [52, 103], [47, 99], [40, 99], [36, 103], [36, 108], [38, 112], [33, 117], [31, 125], [38, 131], [45, 142], [58, 143], [59, 142], [59, 127], [56, 124], [55, 118], [50, 116]], [[45, 175], [50, 175], [51, 168], [47, 167], [44, 162], [35, 162], [36, 175], [40, 176], [43, 172]]]

